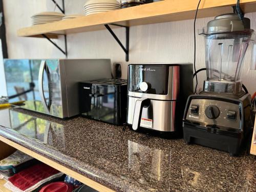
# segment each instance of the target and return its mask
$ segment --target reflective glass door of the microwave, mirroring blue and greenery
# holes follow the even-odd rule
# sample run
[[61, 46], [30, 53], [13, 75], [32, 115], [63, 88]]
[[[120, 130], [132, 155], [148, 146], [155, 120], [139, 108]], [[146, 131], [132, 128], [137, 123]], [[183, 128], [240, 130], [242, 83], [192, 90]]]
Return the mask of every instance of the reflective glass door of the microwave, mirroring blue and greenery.
[[[18, 95], [9, 102], [26, 101], [23, 106], [26, 109], [44, 113], [44, 106], [41, 104], [39, 95], [38, 75], [41, 60], [6, 59], [5, 76], [7, 83], [8, 97]], [[44, 93], [49, 104], [49, 87], [47, 71], [44, 71]], [[24, 93], [24, 94], [22, 94]]]

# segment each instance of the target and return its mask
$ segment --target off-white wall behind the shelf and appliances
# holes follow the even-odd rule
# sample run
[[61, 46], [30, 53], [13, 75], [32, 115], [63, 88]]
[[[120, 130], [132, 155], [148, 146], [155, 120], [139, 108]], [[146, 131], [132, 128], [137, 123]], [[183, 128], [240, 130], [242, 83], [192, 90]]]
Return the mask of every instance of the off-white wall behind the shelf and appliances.
[[[85, 0], [66, 0], [67, 14], [82, 14]], [[40, 11], [53, 11], [50, 0], [4, 0], [8, 53], [10, 58], [63, 58], [65, 57], [46, 39], [17, 37], [19, 28], [31, 25], [30, 16]], [[15, 10], [15, 11], [14, 11]], [[251, 28], [256, 29], [256, 13], [245, 16], [251, 19]], [[206, 26], [212, 18], [198, 19], [197, 29]], [[114, 30], [122, 41], [124, 29]], [[193, 20], [152, 24], [130, 28], [130, 61], [136, 62], [194, 62]], [[106, 31], [94, 31], [68, 35], [69, 58], [111, 58], [123, 62], [123, 77], [126, 78], [126, 62], [122, 49]], [[56, 42], [63, 46], [63, 39]], [[247, 52], [242, 79], [250, 93], [256, 91], [256, 71], [250, 71], [250, 53]], [[203, 37], [197, 35], [197, 69], [205, 67]], [[202, 87], [204, 72], [199, 74]]]

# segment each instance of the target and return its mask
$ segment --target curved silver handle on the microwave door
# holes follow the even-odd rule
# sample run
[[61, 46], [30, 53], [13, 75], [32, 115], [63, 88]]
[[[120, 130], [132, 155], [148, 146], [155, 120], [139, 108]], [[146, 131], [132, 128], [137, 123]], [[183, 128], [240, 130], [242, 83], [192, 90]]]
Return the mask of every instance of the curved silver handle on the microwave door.
[[47, 106], [46, 98], [44, 94], [44, 70], [46, 67], [46, 61], [42, 60], [39, 68], [39, 75], [38, 75], [38, 88], [39, 88], [39, 94], [41, 98], [42, 105], [44, 105], [44, 108], [48, 114], [50, 114], [50, 109]]

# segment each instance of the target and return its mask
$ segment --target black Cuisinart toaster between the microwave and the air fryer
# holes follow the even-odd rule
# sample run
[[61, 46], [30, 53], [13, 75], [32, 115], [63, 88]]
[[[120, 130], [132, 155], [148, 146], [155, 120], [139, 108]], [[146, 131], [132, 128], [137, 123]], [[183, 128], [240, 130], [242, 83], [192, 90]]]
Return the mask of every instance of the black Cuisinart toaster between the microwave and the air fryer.
[[79, 83], [80, 114], [121, 125], [126, 120], [127, 80], [100, 79]]

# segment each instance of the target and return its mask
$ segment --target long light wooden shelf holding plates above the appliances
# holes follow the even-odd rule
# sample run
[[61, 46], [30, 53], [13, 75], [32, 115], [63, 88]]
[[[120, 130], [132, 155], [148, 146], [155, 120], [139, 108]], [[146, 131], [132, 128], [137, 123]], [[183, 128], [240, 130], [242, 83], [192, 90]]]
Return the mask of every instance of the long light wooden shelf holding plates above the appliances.
[[[198, 18], [232, 12], [231, 6], [236, 4], [236, 2], [237, 0], [202, 0]], [[240, 3], [244, 13], [256, 11], [256, 1], [241, 0]], [[21, 37], [42, 37], [41, 34], [47, 34], [56, 38], [56, 34], [102, 30], [105, 29], [104, 24], [137, 26], [187, 20], [194, 18], [197, 4], [198, 0], [164, 0], [50, 24], [22, 28], [17, 31], [17, 34]]]

